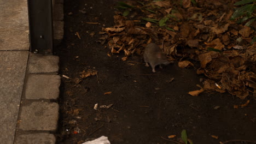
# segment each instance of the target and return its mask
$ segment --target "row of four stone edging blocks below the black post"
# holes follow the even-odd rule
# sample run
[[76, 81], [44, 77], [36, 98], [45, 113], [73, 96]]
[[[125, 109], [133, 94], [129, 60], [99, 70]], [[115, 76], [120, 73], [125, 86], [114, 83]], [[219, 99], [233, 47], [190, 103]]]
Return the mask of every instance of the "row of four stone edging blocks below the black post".
[[59, 119], [59, 104], [52, 102], [60, 93], [58, 64], [57, 56], [30, 53], [14, 143], [56, 142], [49, 133], [57, 130]]

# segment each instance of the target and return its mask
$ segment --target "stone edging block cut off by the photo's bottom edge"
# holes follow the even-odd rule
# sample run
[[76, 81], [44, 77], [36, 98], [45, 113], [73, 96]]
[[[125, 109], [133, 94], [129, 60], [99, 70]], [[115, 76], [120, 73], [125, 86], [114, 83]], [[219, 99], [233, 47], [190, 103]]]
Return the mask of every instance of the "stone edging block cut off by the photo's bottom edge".
[[56, 139], [53, 134], [24, 134], [19, 135], [15, 144], [55, 144]]

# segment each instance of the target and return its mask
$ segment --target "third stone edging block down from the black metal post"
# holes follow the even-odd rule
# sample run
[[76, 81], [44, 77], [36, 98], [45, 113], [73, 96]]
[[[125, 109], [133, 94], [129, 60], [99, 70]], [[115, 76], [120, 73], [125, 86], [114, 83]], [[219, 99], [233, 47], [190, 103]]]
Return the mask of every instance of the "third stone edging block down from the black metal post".
[[35, 101], [21, 107], [19, 129], [56, 131], [59, 118], [59, 105]]

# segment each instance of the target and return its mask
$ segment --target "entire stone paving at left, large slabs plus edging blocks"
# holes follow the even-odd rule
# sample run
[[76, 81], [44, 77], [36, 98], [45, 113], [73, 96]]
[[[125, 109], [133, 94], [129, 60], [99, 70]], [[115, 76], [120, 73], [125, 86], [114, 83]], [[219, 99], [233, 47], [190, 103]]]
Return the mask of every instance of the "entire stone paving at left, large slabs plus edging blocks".
[[[63, 38], [63, 0], [53, 0], [54, 41]], [[0, 141], [55, 143], [59, 57], [29, 52], [27, 0], [0, 0]]]

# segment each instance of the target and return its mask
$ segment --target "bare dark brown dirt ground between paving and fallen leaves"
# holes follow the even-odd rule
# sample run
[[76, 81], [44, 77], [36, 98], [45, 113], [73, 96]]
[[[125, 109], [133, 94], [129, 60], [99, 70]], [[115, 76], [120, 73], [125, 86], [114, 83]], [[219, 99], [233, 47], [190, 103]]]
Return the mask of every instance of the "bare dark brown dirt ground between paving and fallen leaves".
[[[174, 62], [152, 73], [142, 56], [134, 55], [125, 62], [120, 58], [122, 53], [109, 57], [109, 49], [97, 43], [98, 32], [114, 25], [117, 2], [65, 1], [65, 38], [57, 55], [61, 76], [71, 79], [62, 77], [57, 143], [82, 143], [102, 135], [112, 144], [173, 143], [167, 136], [177, 135], [170, 140], [179, 141], [183, 129], [190, 140], [199, 144], [256, 141], [256, 106], [252, 97], [240, 100], [216, 92], [193, 97], [188, 92], [199, 89], [196, 84], [201, 85], [200, 78], [205, 79], [194, 68], [179, 68]], [[83, 70], [90, 69], [96, 70], [97, 76], [74, 81]], [[251, 102], [246, 108], [233, 108], [248, 99]], [[100, 108], [110, 104], [113, 106], [109, 109]], [[214, 109], [216, 106], [219, 108]]]

